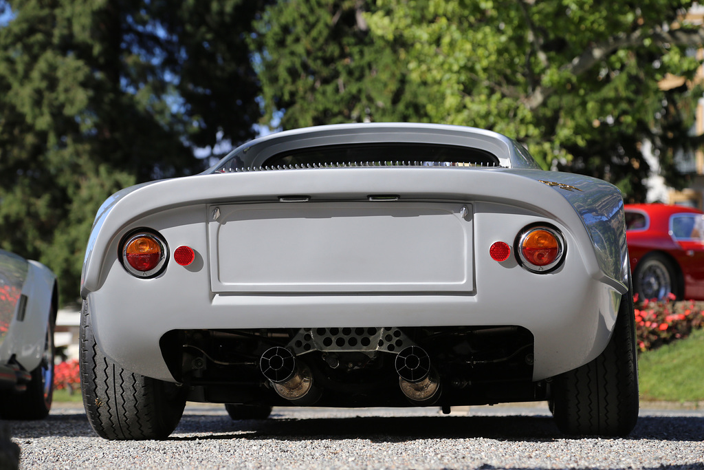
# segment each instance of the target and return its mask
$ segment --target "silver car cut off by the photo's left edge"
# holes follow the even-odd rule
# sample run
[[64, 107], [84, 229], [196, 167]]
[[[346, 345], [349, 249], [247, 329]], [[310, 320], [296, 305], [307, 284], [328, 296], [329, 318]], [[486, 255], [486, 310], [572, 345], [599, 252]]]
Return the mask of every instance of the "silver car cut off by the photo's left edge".
[[0, 418], [42, 419], [54, 392], [56, 278], [0, 249]]

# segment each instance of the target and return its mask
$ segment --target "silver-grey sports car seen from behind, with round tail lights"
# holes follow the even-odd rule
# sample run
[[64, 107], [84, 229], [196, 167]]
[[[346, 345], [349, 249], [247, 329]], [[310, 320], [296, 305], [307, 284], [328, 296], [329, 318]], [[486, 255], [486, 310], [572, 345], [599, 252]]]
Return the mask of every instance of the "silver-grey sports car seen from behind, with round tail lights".
[[110, 197], [82, 274], [94, 430], [165, 438], [186, 400], [273, 406], [547, 400], [565, 433], [638, 416], [620, 192], [450, 125], [261, 137]]

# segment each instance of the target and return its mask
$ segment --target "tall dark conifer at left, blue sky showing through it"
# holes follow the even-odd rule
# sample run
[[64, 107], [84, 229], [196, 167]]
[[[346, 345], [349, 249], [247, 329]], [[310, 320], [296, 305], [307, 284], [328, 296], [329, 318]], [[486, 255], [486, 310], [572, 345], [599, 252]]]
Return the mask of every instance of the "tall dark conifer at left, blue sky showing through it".
[[[77, 297], [98, 206], [253, 136], [256, 1], [0, 2], [0, 247]], [[212, 152], [211, 152], [212, 153]], [[218, 155], [213, 155], [218, 156]]]

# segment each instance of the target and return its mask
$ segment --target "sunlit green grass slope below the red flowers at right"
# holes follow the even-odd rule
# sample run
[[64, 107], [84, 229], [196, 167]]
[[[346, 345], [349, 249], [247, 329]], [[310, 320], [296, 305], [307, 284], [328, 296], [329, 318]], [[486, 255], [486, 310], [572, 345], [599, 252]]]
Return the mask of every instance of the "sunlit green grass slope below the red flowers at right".
[[703, 401], [704, 330], [641, 353], [638, 367], [641, 400]]

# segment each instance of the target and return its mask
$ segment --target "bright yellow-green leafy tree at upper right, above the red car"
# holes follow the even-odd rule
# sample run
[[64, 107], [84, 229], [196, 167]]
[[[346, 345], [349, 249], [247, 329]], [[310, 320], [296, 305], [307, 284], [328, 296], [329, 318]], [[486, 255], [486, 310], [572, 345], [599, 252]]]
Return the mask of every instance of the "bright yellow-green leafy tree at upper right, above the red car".
[[643, 199], [650, 140], [670, 184], [672, 154], [688, 132], [701, 87], [691, 79], [704, 30], [681, 18], [691, 1], [379, 0], [367, 16], [375, 42], [405, 58], [409, 80], [439, 123], [515, 137], [544, 168], [605, 178]]

